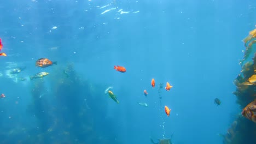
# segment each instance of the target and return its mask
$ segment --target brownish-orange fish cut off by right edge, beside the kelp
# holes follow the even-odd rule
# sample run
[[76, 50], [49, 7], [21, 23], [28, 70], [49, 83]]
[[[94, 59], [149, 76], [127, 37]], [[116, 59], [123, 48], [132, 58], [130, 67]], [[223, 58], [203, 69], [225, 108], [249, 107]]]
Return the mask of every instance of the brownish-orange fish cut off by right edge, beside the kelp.
[[241, 114], [256, 123], [256, 100], [252, 101], [252, 103], [249, 103], [245, 108], [243, 108]]

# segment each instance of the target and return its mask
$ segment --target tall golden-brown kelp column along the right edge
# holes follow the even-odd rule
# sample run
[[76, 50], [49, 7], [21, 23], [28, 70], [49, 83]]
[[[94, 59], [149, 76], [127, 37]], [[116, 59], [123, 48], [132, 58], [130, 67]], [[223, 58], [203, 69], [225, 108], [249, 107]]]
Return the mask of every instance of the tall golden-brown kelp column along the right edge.
[[[233, 94], [237, 97], [237, 104], [243, 109], [256, 98], [256, 29], [249, 32], [248, 37], [243, 41], [245, 42], [246, 50], [243, 60], [241, 62], [241, 73], [238, 74], [234, 80], [236, 91]], [[249, 59], [249, 57], [252, 57]], [[256, 142], [256, 123], [249, 121], [242, 115], [232, 123], [226, 135], [224, 135], [223, 143], [226, 144], [239, 144], [247, 143], [254, 144]]]

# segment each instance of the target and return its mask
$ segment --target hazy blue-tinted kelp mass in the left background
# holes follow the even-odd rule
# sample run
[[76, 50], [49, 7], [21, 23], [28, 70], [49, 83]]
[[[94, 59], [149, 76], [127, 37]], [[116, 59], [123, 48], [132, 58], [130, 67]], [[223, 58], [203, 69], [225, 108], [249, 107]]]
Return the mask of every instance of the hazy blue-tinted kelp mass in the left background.
[[58, 65], [47, 78], [31, 83], [27, 112], [35, 122], [9, 134], [0, 133], [8, 137], [1, 143], [120, 143], [114, 137], [113, 122], [102, 121], [107, 106], [103, 86], [83, 80], [73, 64]]

